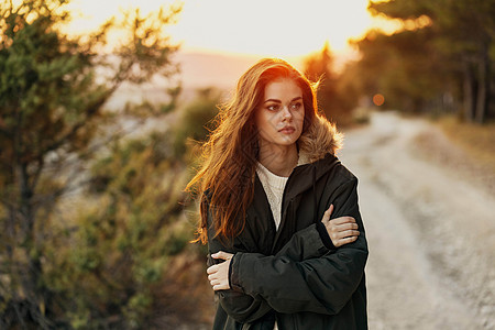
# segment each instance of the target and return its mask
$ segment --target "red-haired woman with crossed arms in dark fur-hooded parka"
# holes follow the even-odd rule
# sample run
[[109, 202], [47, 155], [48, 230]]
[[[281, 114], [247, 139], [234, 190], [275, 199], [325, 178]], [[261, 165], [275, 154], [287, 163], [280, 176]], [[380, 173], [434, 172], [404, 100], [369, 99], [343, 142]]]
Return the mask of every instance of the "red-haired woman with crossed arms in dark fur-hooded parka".
[[[280, 59], [240, 78], [188, 189], [218, 297], [213, 329], [366, 329], [358, 179], [311, 84]], [[330, 218], [333, 218], [330, 220]]]

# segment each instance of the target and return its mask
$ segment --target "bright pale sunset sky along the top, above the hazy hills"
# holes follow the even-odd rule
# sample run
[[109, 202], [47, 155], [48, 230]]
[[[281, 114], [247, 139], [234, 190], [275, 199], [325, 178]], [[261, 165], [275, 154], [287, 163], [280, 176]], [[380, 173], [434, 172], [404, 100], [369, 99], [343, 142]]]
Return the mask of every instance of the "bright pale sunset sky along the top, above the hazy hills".
[[304, 56], [329, 42], [333, 52], [371, 28], [396, 29], [366, 11], [367, 0], [73, 0], [70, 31], [96, 29], [122, 9], [143, 13], [183, 3], [178, 21], [165, 30], [183, 51], [256, 56]]

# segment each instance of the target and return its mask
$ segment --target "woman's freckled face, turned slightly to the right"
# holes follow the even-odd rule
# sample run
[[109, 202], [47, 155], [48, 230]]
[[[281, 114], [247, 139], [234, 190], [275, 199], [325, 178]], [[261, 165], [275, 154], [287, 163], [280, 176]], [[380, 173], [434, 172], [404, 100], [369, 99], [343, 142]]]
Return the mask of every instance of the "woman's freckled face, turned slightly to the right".
[[287, 78], [268, 82], [261, 106], [255, 110], [255, 124], [260, 133], [260, 145], [289, 146], [302, 133], [305, 106], [302, 91]]

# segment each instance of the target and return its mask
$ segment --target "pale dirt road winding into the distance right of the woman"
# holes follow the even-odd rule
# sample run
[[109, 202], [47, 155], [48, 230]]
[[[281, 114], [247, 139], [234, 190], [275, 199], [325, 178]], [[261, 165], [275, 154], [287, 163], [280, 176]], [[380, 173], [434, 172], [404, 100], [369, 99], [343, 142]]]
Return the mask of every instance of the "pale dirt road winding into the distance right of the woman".
[[425, 156], [415, 141], [435, 130], [387, 112], [345, 134], [339, 156], [360, 178], [370, 244], [371, 329], [495, 329], [495, 196]]

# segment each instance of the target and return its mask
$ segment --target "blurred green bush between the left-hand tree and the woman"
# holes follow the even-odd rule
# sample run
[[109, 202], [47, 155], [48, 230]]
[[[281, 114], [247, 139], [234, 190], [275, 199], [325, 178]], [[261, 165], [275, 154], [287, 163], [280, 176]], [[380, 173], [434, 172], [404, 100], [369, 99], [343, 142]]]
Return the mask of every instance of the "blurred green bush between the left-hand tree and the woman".
[[193, 237], [178, 221], [184, 164], [164, 157], [168, 143], [157, 133], [119, 143], [92, 167], [94, 197], [81, 207], [73, 249], [50, 274], [74, 301], [74, 328], [153, 328], [161, 298], [153, 287], [164, 285], [169, 257]]

